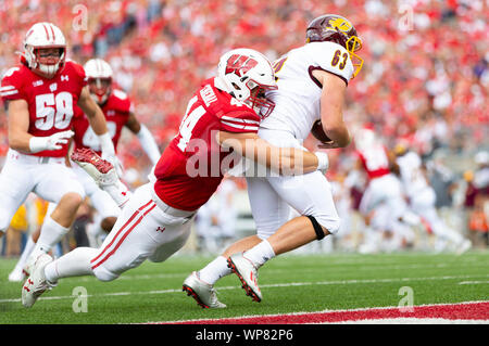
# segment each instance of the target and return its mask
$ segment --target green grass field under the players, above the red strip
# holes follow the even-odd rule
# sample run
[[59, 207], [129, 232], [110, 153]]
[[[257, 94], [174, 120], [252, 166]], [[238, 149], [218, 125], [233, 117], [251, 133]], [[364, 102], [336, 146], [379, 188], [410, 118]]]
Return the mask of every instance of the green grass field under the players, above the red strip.
[[[236, 275], [217, 285], [226, 309], [197, 306], [181, 291], [185, 278], [211, 257], [177, 255], [145, 262], [112, 282], [91, 277], [60, 281], [36, 305], [21, 304], [21, 283], [8, 282], [14, 259], [0, 260], [0, 324], [143, 323], [398, 306], [400, 289], [413, 291], [414, 305], [489, 299], [489, 252], [384, 255], [283, 255], [260, 270], [261, 303], [251, 302]], [[75, 312], [75, 287], [88, 294], [87, 312]], [[79, 306], [76, 305], [75, 306]]]

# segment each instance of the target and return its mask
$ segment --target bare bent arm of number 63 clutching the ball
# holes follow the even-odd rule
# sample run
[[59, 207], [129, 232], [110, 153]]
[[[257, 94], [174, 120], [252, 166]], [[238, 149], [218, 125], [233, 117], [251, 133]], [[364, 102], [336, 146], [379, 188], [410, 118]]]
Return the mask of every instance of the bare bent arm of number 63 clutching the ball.
[[340, 77], [325, 71], [315, 69], [313, 76], [323, 86], [321, 94], [321, 123], [325, 133], [331, 139], [331, 148], [344, 148], [351, 136], [343, 120], [343, 103], [347, 84]]

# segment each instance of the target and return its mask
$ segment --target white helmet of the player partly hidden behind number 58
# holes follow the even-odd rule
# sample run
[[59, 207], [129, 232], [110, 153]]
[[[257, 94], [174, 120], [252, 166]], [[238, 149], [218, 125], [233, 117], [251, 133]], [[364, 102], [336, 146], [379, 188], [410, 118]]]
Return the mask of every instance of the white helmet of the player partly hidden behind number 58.
[[98, 104], [103, 104], [112, 92], [112, 67], [101, 59], [90, 59], [84, 65], [88, 78], [90, 95]]

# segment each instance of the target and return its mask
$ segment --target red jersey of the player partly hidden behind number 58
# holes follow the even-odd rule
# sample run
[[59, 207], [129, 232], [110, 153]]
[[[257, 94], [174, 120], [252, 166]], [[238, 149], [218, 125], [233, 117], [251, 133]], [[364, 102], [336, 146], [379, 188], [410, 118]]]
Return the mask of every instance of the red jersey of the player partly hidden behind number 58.
[[[82, 112], [79, 107], [76, 108], [75, 113]], [[129, 118], [129, 113], [133, 112], [130, 100], [124, 91], [114, 89], [102, 106], [102, 112], [105, 115], [106, 127], [114, 143], [114, 149], [117, 151], [122, 129]], [[99, 139], [91, 129], [87, 116], [83, 112], [82, 115], [73, 120], [75, 149], [90, 148], [100, 154]]]

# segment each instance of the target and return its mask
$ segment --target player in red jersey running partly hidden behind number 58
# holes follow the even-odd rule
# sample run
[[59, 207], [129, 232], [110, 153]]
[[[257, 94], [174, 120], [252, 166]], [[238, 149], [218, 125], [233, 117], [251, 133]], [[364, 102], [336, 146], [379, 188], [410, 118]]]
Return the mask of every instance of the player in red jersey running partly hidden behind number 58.
[[[85, 74], [88, 79], [88, 89], [93, 101], [101, 107], [109, 133], [112, 138], [115, 150], [117, 149], [118, 139], [123, 127], [127, 127], [135, 133], [142, 149], [147, 153], [153, 166], [160, 158], [160, 150], [148, 128], [140, 124], [136, 118], [133, 110], [133, 104], [127, 94], [112, 86], [113, 72], [109, 63], [101, 59], [91, 59], [84, 65]], [[75, 149], [90, 148], [97, 153], [101, 154], [101, 146], [98, 136], [90, 126], [88, 117], [76, 105], [74, 105], [74, 117], [72, 128], [75, 134], [73, 142]], [[118, 159], [115, 162], [118, 168], [117, 175], [122, 175], [122, 168]], [[82, 183], [85, 194], [89, 197], [91, 205], [98, 212], [96, 220], [87, 232], [90, 243], [97, 247], [99, 236], [111, 231], [112, 227], [121, 213], [120, 206], [114, 200], [104, 191], [100, 190], [93, 179], [89, 177], [78, 165], [72, 165], [79, 182]], [[127, 191], [127, 193], [129, 193]], [[50, 203], [48, 207], [48, 215], [55, 208], [54, 203]], [[15, 268], [9, 274], [9, 281], [23, 281], [25, 273], [26, 259], [29, 252], [33, 251], [34, 244], [39, 236], [38, 232], [30, 235], [28, 246], [25, 246], [24, 254], [15, 265]], [[97, 245], [97, 246], [96, 246]]]

